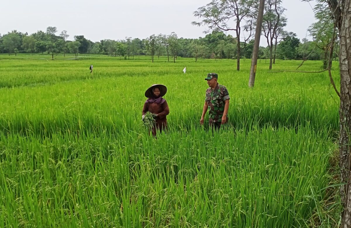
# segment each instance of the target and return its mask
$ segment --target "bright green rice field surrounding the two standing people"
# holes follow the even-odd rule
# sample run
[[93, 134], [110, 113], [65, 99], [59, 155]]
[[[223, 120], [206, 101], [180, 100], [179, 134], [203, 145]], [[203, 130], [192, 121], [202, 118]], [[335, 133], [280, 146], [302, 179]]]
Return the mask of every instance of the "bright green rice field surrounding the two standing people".
[[[259, 60], [249, 89], [250, 60], [237, 72], [235, 60], [43, 57], [0, 55], [0, 227], [337, 226], [339, 101], [326, 72], [267, 73]], [[210, 72], [231, 97], [216, 134], [208, 115], [199, 125]], [[157, 140], [141, 121], [155, 83], [170, 107]]]

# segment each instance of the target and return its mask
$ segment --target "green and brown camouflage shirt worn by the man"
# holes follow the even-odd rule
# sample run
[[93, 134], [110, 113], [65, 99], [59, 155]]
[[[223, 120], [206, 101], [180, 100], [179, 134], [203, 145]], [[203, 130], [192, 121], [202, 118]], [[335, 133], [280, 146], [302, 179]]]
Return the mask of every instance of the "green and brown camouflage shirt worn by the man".
[[228, 100], [229, 93], [225, 86], [217, 83], [216, 88], [211, 87], [206, 90], [207, 105], [209, 107], [208, 119], [210, 123], [221, 122], [224, 112], [224, 101]]

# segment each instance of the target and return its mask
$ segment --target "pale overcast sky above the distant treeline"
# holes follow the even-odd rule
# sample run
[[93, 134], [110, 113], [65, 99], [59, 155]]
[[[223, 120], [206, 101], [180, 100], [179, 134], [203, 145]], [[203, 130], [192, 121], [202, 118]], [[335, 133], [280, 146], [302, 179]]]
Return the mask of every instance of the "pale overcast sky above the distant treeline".
[[[16, 29], [28, 34], [57, 27], [58, 35], [66, 30], [69, 38], [84, 35], [95, 42], [103, 39], [121, 40], [125, 37], [146, 38], [152, 34], [199, 38], [205, 27], [191, 25], [198, 20], [193, 12], [211, 0], [8, 0], [1, 3], [0, 33]], [[294, 32], [302, 40], [307, 28], [315, 22], [314, 2], [283, 0], [287, 18], [286, 31]], [[235, 31], [227, 32], [235, 36]], [[261, 36], [261, 46], [267, 46]]]

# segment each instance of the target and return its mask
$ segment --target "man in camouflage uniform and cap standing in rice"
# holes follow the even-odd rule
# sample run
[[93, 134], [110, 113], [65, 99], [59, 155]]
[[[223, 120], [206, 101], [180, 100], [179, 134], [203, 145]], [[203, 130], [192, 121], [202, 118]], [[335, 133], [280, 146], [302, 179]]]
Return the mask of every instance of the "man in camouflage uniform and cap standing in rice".
[[209, 88], [206, 90], [206, 99], [202, 111], [200, 124], [204, 124], [204, 117], [208, 107], [208, 120], [212, 129], [218, 130], [222, 124], [227, 122], [227, 114], [229, 108], [229, 93], [225, 86], [219, 85], [218, 74], [209, 73], [205, 78]]

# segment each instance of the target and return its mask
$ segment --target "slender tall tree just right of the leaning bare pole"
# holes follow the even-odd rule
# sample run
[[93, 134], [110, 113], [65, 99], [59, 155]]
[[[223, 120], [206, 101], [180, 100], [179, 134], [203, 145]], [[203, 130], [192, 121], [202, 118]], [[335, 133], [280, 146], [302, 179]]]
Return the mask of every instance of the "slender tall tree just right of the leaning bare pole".
[[266, 0], [265, 14], [263, 15], [262, 30], [270, 48], [270, 70], [272, 69], [273, 63], [273, 39], [276, 37], [279, 26], [284, 25], [281, 21], [283, 20], [282, 14], [284, 13], [285, 8], [280, 6], [281, 3], [282, 0]]

